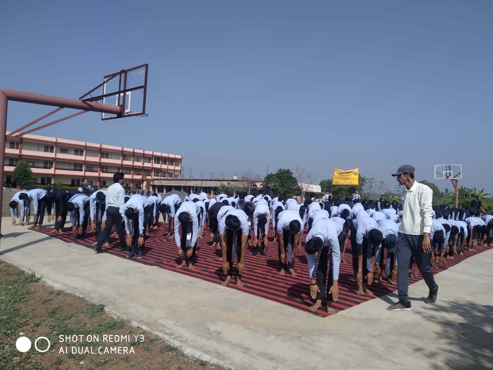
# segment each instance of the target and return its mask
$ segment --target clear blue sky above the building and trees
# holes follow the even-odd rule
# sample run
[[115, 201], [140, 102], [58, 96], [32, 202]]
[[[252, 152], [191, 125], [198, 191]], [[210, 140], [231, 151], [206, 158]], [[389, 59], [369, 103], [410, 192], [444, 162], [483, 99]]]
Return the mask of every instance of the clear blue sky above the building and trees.
[[[178, 153], [197, 177], [359, 167], [393, 188], [403, 163], [427, 180], [462, 163], [461, 185], [493, 192], [492, 16], [489, 0], [8, 1], [0, 87], [77, 98], [148, 63], [148, 118], [36, 133]], [[10, 103], [8, 129], [49, 110]]]

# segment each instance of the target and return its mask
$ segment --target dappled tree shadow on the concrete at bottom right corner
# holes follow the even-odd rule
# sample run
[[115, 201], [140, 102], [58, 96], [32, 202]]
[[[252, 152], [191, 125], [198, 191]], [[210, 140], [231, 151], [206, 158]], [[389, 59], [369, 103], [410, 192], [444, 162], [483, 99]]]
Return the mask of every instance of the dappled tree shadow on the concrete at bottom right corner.
[[439, 296], [433, 308], [420, 314], [440, 325], [435, 334], [449, 352], [438, 353], [424, 346], [414, 351], [428, 358], [443, 358], [434, 369], [493, 369], [493, 307], [463, 300], [440, 302]]

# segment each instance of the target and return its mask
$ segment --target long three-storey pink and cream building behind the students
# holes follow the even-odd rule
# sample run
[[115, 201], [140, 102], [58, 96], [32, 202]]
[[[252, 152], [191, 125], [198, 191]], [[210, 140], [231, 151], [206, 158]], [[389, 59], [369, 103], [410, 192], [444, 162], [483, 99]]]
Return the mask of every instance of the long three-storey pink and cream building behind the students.
[[[7, 134], [9, 132], [7, 131]], [[181, 178], [181, 155], [77, 140], [24, 135], [5, 143], [3, 182], [11, 178], [16, 164], [26, 161], [35, 185], [79, 185], [83, 178], [98, 187], [113, 184], [113, 174], [125, 174], [124, 187], [143, 188], [148, 181]], [[142, 180], [142, 171], [146, 180]]]

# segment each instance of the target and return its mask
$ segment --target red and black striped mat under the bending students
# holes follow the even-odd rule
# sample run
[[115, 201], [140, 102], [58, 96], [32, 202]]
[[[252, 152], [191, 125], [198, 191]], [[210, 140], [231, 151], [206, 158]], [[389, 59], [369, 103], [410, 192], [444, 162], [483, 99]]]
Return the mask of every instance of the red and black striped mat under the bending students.
[[[51, 230], [51, 228], [42, 228], [36, 231], [48, 234]], [[66, 228], [66, 230], [70, 230], [70, 228]], [[91, 244], [95, 241], [95, 235], [91, 232], [86, 234], [84, 240], [74, 240], [74, 235], [71, 231], [66, 231], [63, 234], [50, 235], [65, 242], [76, 243], [88, 247], [91, 249], [91, 252], [93, 249]], [[204, 237], [199, 238], [198, 241], [199, 250], [197, 251], [194, 260], [194, 269], [188, 269], [186, 267], [181, 269], [176, 268], [179, 259], [176, 253], [175, 240], [165, 240], [164, 235], [164, 224], [160, 224], [157, 229], [151, 230], [145, 240], [143, 258], [132, 258], [131, 260], [193, 276], [213, 284], [220, 284], [221, 281], [224, 280], [222, 264], [219, 260], [221, 253], [219, 249], [212, 249], [210, 247], [209, 231], [207, 229], [204, 231]], [[272, 230], [270, 231], [270, 235], [272, 235]], [[303, 241], [305, 240], [305, 236], [306, 231], [302, 236]], [[120, 245], [116, 239], [111, 239], [111, 241], [112, 244], [104, 249], [104, 252], [125, 258], [125, 256], [128, 255], [128, 252], [120, 251]], [[254, 296], [270, 299], [311, 313], [308, 311], [308, 307], [313, 303], [310, 297], [308, 266], [304, 251], [302, 250], [302, 253], [299, 253], [296, 256], [295, 270], [298, 273], [298, 276], [291, 276], [289, 274], [280, 276], [277, 271], [279, 265], [277, 244], [274, 244], [272, 237], [269, 237], [269, 241], [269, 245], [266, 247], [266, 256], [261, 256], [260, 254], [252, 256], [251, 253], [253, 247], [248, 247], [245, 259], [245, 272], [243, 274], [243, 283], [245, 286], [241, 288], [236, 287], [233, 278], [228, 288], [237, 289]], [[472, 255], [488, 249], [491, 248], [485, 245], [485, 247], [478, 252], [465, 251], [464, 256], [456, 255], [454, 259], [447, 259], [443, 266], [433, 269], [433, 273], [436, 274], [443, 271]], [[91, 252], [88, 251], [88, 253]], [[378, 296], [385, 296], [397, 289], [396, 285], [391, 285], [386, 281], [383, 281], [382, 284], [375, 281], [370, 287], [370, 290], [375, 296], [357, 295], [352, 272], [351, 241], [348, 242], [345, 260], [345, 262], [341, 261], [339, 272], [339, 299], [337, 302], [333, 303], [333, 307], [336, 311], [355, 306], [356, 304], [374, 299]], [[421, 277], [410, 278], [409, 283], [412, 284], [419, 280], [421, 280]], [[319, 309], [314, 314], [317, 316], [327, 316], [327, 313], [322, 309]]]

